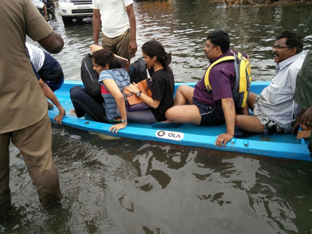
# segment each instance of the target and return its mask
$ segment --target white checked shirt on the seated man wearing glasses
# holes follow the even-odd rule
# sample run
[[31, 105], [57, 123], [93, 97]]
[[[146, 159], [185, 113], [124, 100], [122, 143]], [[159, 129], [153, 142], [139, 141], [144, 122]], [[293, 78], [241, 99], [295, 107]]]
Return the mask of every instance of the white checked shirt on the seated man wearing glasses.
[[[293, 101], [296, 88], [296, 77], [301, 69], [305, 54], [297, 54], [276, 65], [276, 76], [271, 85], [260, 94], [253, 115], [265, 115], [280, 127], [291, 130], [292, 112], [294, 107], [295, 118], [300, 112], [300, 106]], [[294, 105], [294, 106], [293, 106]]]

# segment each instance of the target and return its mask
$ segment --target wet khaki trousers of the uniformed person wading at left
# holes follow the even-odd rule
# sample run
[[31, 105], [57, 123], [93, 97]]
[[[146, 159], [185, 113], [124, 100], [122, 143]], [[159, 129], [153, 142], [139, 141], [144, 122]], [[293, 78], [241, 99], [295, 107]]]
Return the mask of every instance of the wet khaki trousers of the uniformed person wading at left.
[[0, 222], [12, 212], [9, 188], [10, 140], [21, 152], [43, 207], [59, 202], [62, 194], [52, 160], [51, 122], [48, 112], [36, 124], [0, 134]]

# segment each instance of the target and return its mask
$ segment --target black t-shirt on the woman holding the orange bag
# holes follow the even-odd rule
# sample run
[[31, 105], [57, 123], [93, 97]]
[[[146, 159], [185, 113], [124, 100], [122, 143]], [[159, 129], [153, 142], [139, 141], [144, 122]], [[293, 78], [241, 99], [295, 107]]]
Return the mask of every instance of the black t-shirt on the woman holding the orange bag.
[[151, 108], [153, 115], [157, 121], [166, 120], [166, 110], [173, 106], [174, 93], [174, 77], [170, 67], [155, 71], [152, 77], [153, 80], [153, 100], [160, 101], [157, 109]]

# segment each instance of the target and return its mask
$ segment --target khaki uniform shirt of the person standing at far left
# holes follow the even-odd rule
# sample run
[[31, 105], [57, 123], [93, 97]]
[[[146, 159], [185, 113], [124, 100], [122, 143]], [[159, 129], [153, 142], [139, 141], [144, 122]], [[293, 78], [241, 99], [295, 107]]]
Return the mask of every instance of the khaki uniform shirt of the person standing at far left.
[[41, 120], [47, 102], [32, 71], [26, 34], [34, 41], [53, 31], [31, 0], [2, 0], [0, 7], [0, 134]]

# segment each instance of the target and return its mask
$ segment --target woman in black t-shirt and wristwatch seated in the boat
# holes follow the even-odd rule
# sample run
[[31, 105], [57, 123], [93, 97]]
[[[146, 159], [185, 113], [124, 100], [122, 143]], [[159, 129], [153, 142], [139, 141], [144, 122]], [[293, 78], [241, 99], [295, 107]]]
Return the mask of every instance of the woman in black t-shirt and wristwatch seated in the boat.
[[154, 67], [152, 97], [141, 93], [135, 84], [131, 84], [125, 89], [136, 94], [143, 102], [150, 105], [151, 108], [140, 111], [127, 111], [127, 118], [132, 122], [152, 124], [166, 120], [166, 110], [174, 104], [174, 77], [169, 67], [171, 53], [167, 53], [160, 42], [152, 40], [144, 43], [142, 54], [146, 66], [148, 68]]

